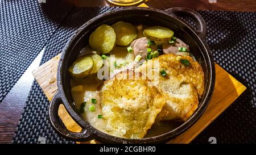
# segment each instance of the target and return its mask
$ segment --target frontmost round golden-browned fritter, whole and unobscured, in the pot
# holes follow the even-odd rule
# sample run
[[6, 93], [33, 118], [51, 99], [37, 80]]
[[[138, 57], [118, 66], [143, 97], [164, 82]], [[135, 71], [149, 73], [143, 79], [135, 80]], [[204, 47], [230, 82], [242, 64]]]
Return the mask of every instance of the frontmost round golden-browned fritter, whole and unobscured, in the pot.
[[138, 72], [121, 72], [104, 82], [101, 107], [110, 135], [142, 139], [166, 103], [150, 80], [142, 77]]

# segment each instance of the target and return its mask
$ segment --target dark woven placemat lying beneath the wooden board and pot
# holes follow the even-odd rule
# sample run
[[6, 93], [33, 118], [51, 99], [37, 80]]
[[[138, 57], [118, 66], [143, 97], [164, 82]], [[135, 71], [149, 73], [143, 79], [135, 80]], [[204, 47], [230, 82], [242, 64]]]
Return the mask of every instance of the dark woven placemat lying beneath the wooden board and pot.
[[[47, 44], [41, 64], [60, 53], [69, 36], [88, 19], [114, 7], [73, 9]], [[247, 90], [193, 143], [255, 143], [255, 21], [253, 12], [199, 11], [208, 25], [207, 42], [214, 60], [240, 80]], [[188, 20], [190, 22], [190, 20]], [[37, 82], [28, 96], [22, 118], [13, 138], [14, 143], [73, 143], [53, 131], [48, 122], [49, 102]]]

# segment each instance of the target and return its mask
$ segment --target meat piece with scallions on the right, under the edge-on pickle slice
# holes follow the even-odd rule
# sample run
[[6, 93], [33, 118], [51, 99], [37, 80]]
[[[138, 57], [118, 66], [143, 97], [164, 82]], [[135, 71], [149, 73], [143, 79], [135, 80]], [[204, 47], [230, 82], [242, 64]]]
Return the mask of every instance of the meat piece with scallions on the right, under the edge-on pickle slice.
[[180, 55], [179, 47], [186, 47], [189, 51], [188, 45], [177, 38], [175, 43], [173, 44], [170, 44], [167, 41], [163, 43], [163, 53], [165, 54], [172, 53], [174, 55]]

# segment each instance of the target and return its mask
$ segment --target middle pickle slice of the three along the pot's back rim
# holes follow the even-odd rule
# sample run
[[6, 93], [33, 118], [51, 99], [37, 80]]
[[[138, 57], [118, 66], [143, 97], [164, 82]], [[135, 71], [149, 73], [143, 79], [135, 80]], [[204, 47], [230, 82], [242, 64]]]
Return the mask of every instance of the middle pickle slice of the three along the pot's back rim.
[[137, 37], [137, 28], [131, 23], [117, 22], [112, 25], [117, 35], [116, 44], [120, 46], [129, 45]]

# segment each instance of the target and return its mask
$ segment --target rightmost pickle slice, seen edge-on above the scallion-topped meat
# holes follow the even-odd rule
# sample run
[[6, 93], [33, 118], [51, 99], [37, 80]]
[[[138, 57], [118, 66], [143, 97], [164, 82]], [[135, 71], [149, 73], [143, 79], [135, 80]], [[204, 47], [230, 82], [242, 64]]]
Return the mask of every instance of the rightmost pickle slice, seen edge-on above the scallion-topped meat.
[[148, 27], [143, 31], [143, 33], [147, 39], [154, 41], [168, 41], [172, 36], [174, 36], [174, 31], [162, 26]]

